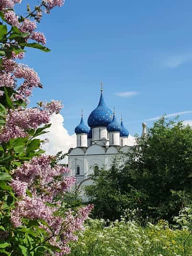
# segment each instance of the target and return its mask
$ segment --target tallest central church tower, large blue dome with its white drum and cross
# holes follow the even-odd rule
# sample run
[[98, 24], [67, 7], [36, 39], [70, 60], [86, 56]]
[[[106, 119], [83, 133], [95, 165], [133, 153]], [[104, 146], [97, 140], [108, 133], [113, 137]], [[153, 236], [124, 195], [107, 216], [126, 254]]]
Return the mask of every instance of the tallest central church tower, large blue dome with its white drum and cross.
[[92, 129], [92, 145], [108, 145], [107, 126], [112, 121], [113, 112], [107, 107], [103, 97], [103, 85], [101, 83], [101, 96], [99, 104], [91, 112], [88, 118], [88, 125]]

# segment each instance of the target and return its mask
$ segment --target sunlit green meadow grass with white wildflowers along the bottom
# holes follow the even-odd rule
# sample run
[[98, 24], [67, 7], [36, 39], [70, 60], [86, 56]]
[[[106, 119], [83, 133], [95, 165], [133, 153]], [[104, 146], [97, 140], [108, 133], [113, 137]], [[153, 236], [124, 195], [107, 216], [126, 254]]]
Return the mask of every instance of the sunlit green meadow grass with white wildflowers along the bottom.
[[89, 219], [71, 256], [192, 256], [192, 233], [171, 229], [160, 220], [142, 228], [134, 221], [110, 222]]

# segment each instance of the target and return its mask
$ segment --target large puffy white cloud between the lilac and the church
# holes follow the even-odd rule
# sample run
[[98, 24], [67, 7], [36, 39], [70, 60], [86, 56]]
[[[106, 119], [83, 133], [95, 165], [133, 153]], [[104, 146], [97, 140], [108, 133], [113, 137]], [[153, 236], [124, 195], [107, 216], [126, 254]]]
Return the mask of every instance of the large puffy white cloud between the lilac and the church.
[[[56, 155], [59, 151], [68, 153], [70, 147], [76, 147], [76, 135], [69, 135], [68, 131], [63, 126], [64, 118], [61, 114], [53, 114], [50, 122], [51, 127], [48, 128], [49, 133], [41, 135], [41, 138], [48, 138], [48, 143], [42, 146], [48, 155]], [[64, 162], [67, 163], [67, 158]]]

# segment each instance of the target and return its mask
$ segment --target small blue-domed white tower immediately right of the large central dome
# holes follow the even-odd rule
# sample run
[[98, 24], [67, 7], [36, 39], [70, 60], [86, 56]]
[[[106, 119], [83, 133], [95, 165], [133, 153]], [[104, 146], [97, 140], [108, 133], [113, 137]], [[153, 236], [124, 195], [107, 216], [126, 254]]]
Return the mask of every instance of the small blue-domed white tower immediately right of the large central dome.
[[115, 118], [115, 109], [113, 111], [113, 120], [107, 127], [109, 133], [109, 146], [120, 146], [120, 124]]

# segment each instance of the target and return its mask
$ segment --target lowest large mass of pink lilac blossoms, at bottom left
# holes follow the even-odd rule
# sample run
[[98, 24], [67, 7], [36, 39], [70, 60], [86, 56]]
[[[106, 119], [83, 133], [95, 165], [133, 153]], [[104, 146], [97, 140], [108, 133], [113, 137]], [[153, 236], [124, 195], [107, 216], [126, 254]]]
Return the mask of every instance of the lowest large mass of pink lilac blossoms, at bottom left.
[[[46, 205], [46, 202], [53, 203], [54, 197], [52, 195], [65, 192], [70, 185], [74, 184], [75, 177], [62, 177], [63, 173], [70, 172], [69, 168], [51, 167], [52, 159], [53, 157], [50, 156], [34, 157], [15, 170], [11, 185], [15, 193], [23, 197], [15, 203], [15, 208], [11, 212], [11, 221], [13, 227], [17, 228], [22, 225], [22, 218], [45, 220], [48, 226], [40, 224], [40, 227], [50, 235], [49, 243], [61, 250], [60, 253], [57, 253], [60, 256], [70, 253], [67, 243], [77, 240], [77, 236], [73, 233], [84, 229], [84, 220], [88, 217], [93, 206], [81, 207], [76, 214], [69, 210], [64, 213], [65, 217], [55, 216], [60, 202], [57, 202], [57, 207], [50, 207]], [[56, 182], [55, 178], [58, 176], [62, 179]], [[31, 187], [35, 179], [44, 180], [38, 188], [42, 189], [41, 192], [37, 191], [35, 187]], [[32, 197], [25, 194], [27, 186], [33, 195]]]

